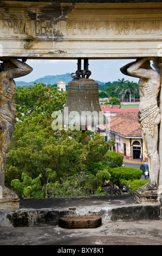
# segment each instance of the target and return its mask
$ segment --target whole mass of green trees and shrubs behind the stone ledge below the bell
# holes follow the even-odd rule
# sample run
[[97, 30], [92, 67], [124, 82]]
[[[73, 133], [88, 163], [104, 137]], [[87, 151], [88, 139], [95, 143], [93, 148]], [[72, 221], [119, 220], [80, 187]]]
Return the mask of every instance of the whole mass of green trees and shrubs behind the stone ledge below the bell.
[[[16, 89], [16, 129], [6, 163], [5, 184], [23, 198], [102, 194], [102, 183], [140, 179], [141, 171], [120, 168], [123, 156], [99, 133], [51, 128], [67, 93], [44, 86]], [[83, 143], [84, 140], [84, 143]], [[132, 190], [131, 190], [132, 191]]]

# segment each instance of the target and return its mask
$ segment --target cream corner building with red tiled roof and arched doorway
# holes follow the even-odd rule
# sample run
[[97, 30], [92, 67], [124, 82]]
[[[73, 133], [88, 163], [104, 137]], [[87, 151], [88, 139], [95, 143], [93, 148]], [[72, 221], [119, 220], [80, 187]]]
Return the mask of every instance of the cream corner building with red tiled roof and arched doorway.
[[106, 125], [98, 126], [98, 132], [105, 134], [107, 139], [115, 138], [115, 151], [124, 155], [128, 160], [148, 161], [144, 142], [141, 137], [137, 112], [116, 112], [116, 116], [109, 115], [109, 128]]

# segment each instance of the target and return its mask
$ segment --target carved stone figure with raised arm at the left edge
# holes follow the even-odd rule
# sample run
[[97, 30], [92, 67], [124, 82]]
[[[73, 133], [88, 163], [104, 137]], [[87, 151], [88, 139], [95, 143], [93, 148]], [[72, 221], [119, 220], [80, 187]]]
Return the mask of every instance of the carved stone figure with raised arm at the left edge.
[[17, 195], [4, 185], [5, 162], [15, 129], [16, 84], [13, 78], [25, 76], [33, 69], [15, 58], [1, 58], [1, 61], [3, 63], [0, 66], [0, 186], [3, 197], [16, 197]]

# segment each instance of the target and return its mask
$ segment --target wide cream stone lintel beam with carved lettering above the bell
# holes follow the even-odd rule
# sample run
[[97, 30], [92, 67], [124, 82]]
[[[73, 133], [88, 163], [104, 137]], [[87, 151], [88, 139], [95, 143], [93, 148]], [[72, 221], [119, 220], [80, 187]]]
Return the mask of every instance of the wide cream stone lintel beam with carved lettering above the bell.
[[0, 59], [149, 57], [161, 73], [160, 1], [8, 0], [0, 1], [0, 8]]

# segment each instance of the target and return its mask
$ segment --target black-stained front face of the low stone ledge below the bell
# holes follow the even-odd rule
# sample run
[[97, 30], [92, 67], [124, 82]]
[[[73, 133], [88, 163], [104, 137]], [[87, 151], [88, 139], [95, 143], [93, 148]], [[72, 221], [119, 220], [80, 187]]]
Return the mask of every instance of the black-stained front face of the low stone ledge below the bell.
[[42, 227], [58, 225], [60, 217], [100, 216], [102, 222], [160, 220], [160, 205], [80, 206], [54, 209], [0, 211], [0, 227]]

